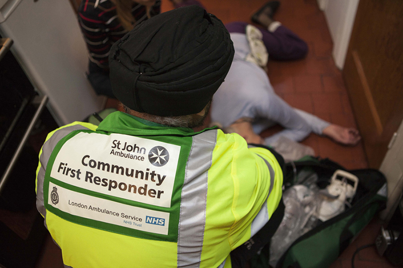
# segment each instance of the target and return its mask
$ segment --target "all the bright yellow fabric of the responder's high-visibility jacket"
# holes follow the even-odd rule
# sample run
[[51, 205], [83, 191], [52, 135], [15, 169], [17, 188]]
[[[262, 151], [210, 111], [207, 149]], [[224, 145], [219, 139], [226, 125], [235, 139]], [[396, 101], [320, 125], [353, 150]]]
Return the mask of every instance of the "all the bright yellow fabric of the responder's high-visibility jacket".
[[[97, 128], [81, 122], [63, 127], [76, 124], [91, 130]], [[46, 140], [55, 131], [49, 133]], [[212, 167], [208, 172], [206, 225], [200, 267], [217, 267], [225, 259], [225, 267], [231, 267], [230, 252], [250, 238], [251, 223], [270, 189], [270, 172], [259, 155], [272, 165], [276, 174], [272, 194], [267, 199], [270, 218], [282, 194], [283, 174], [276, 158], [266, 149], [248, 149], [245, 140], [237, 134], [218, 131]], [[37, 175], [40, 168], [41, 163]], [[75, 224], [49, 211], [46, 212], [46, 223], [53, 239], [63, 249], [64, 264], [74, 268], [177, 266], [177, 243], [174, 242], [133, 239]]]

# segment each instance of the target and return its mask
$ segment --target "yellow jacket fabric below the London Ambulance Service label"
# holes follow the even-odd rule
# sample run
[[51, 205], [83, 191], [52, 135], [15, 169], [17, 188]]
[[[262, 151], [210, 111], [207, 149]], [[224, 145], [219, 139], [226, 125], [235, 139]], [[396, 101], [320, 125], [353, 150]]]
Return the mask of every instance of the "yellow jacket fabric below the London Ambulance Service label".
[[[61, 219], [46, 212], [46, 224], [74, 268], [176, 267], [177, 243], [133, 239]], [[118, 248], [118, 250], [116, 250]], [[161, 263], [161, 259], [164, 263]]]

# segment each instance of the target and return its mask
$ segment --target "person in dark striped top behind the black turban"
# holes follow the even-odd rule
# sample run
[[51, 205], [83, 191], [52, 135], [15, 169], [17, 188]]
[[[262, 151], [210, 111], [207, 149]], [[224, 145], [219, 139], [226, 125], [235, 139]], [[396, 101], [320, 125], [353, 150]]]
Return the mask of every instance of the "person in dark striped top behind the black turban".
[[[197, 5], [197, 0], [173, 1], [174, 7]], [[88, 76], [98, 95], [115, 98], [109, 79], [109, 50], [136, 25], [161, 12], [161, 0], [82, 0], [78, 20], [88, 48]]]

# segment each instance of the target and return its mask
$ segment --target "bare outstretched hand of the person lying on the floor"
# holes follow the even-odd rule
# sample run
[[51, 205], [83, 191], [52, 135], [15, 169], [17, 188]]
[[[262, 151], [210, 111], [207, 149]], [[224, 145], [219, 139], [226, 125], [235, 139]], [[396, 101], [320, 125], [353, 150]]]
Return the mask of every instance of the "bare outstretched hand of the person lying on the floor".
[[357, 129], [345, 128], [334, 124], [323, 129], [322, 133], [334, 141], [345, 145], [356, 145], [361, 140]]

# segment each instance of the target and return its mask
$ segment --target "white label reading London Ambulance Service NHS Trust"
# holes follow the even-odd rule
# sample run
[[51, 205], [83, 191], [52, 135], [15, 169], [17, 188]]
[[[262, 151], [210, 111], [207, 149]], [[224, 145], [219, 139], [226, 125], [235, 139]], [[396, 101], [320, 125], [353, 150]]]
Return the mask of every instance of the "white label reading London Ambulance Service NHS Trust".
[[88, 196], [49, 183], [48, 204], [71, 215], [156, 234], [168, 234], [169, 213]]

